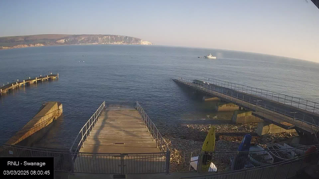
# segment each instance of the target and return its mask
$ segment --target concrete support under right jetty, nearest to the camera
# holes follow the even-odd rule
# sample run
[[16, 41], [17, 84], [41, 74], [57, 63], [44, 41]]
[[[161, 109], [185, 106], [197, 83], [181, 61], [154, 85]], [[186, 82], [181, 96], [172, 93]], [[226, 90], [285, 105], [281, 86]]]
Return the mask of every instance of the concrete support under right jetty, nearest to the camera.
[[282, 127], [279, 127], [275, 124], [270, 124], [268, 122], [259, 122], [258, 123], [258, 127], [256, 129], [256, 133], [259, 135], [259, 136], [262, 136], [264, 134], [267, 134], [267, 133], [281, 133], [281, 132], [296, 132], [295, 129], [284, 129]]

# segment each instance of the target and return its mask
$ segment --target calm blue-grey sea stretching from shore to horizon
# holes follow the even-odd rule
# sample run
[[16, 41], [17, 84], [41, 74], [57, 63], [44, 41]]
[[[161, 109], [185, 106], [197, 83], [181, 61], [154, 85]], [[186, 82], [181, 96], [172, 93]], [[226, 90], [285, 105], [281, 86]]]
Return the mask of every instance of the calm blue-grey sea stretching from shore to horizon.
[[[217, 55], [217, 60], [197, 58]], [[262, 54], [139, 45], [75, 45], [0, 50], [0, 83], [51, 71], [59, 80], [0, 97], [0, 143], [25, 125], [43, 101], [61, 101], [63, 118], [46, 143], [69, 147], [105, 100], [133, 107], [136, 101], [156, 124], [229, 119], [171, 79], [210, 77], [319, 101], [319, 64]], [[44, 142], [43, 142], [44, 143]]]

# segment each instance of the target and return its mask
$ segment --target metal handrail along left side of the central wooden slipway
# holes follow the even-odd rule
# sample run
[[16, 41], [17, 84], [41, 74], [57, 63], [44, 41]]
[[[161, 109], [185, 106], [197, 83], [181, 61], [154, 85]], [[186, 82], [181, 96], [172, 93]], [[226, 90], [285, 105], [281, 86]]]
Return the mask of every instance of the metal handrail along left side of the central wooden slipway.
[[[79, 148], [84, 147], [84, 140], [87, 139], [87, 137], [90, 135], [91, 131], [95, 127], [95, 124], [97, 123], [99, 117], [101, 116], [102, 112], [105, 110], [105, 101], [100, 105], [100, 107], [94, 112], [94, 114], [91, 116], [91, 118], [83, 125], [80, 132], [76, 136], [74, 142], [72, 143], [72, 146], [70, 148], [70, 152], [73, 152], [73, 146], [75, 142], [77, 141], [77, 146], [75, 152], [79, 152]], [[89, 124], [89, 125], [88, 125]], [[83, 132], [83, 129], [85, 128], [85, 132]], [[81, 136], [80, 136], [81, 134]], [[80, 141], [79, 138], [81, 137]]]

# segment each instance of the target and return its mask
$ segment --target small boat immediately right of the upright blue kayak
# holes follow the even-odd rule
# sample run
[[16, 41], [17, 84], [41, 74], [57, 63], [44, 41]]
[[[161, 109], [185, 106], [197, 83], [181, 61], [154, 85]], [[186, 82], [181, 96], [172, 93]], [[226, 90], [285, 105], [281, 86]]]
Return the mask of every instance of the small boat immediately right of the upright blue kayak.
[[274, 163], [273, 156], [260, 145], [250, 146], [248, 158], [256, 167]]

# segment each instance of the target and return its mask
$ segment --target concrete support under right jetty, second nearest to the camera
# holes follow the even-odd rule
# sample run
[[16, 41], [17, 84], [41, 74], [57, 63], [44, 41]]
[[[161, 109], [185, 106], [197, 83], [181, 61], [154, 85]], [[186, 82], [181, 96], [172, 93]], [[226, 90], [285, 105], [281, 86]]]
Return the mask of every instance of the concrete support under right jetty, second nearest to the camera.
[[245, 122], [263, 122], [259, 117], [253, 116], [249, 110], [235, 110], [231, 118], [231, 123], [245, 123]]

